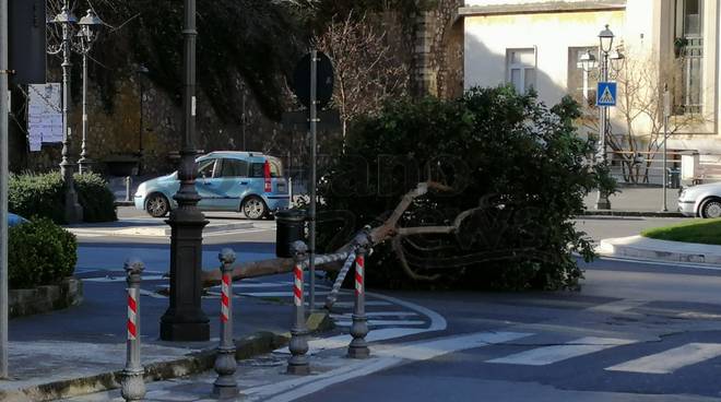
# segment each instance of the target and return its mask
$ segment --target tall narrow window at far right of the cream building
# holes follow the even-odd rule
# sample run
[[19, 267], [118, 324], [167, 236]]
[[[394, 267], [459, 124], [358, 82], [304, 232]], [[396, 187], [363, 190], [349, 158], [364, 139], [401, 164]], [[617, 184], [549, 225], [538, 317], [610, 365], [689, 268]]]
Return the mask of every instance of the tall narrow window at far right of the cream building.
[[700, 113], [702, 106], [704, 0], [676, 0], [674, 111]]

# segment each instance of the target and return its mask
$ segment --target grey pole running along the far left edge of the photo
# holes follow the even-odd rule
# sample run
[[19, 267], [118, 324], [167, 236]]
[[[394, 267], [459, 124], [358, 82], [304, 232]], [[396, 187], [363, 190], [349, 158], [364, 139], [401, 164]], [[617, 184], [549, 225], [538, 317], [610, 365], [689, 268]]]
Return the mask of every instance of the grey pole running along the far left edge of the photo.
[[0, 378], [8, 378], [8, 0], [0, 0]]

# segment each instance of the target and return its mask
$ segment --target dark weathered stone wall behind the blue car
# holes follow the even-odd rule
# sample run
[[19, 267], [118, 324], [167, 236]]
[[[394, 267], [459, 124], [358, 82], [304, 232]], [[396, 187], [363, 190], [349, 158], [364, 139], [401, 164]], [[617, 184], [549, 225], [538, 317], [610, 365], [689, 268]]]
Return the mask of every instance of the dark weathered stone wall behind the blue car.
[[[106, 162], [114, 158], [138, 157], [140, 155], [140, 81], [143, 80], [143, 132], [142, 166], [144, 174], [163, 174], [175, 169], [175, 159], [182, 135], [182, 111], [180, 99], [156, 88], [145, 76], [132, 71], [119, 71], [115, 82], [116, 93], [111, 110], [107, 110], [99, 96], [101, 88], [88, 81], [87, 94], [87, 153], [96, 165], [94, 169], [106, 172]], [[245, 105], [245, 147], [241, 123], [243, 105], [237, 105], [236, 121], [223, 121], [209, 106], [202, 92], [198, 94], [197, 147], [210, 152], [215, 150], [262, 151], [270, 154], [285, 154], [288, 141], [281, 135], [280, 122], [267, 119], [238, 76], [238, 92], [246, 93]], [[12, 149], [12, 172], [47, 172], [58, 168], [61, 146], [44, 145], [42, 152], [28, 152], [24, 127], [23, 107], [26, 99], [22, 91], [15, 91], [13, 109], [17, 113], [14, 125]], [[81, 94], [73, 96], [70, 117], [72, 129], [72, 154], [76, 161], [81, 147], [82, 132]]]

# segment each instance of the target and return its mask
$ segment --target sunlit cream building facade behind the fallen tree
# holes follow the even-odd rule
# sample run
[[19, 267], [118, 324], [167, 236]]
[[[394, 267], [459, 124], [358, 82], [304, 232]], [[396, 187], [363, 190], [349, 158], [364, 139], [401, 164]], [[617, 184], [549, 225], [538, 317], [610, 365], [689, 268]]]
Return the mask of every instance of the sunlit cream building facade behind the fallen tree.
[[630, 78], [626, 85], [619, 83], [619, 102], [628, 98], [626, 88], [646, 98], [637, 102], [657, 104], [653, 113], [634, 119], [628, 118], [634, 109], [648, 105], [626, 99], [628, 105], [613, 108], [613, 133], [658, 131], [664, 107], [658, 104], [663, 103], [667, 85], [673, 127], [669, 146], [721, 155], [719, 3], [466, 0], [458, 12], [463, 29], [463, 86], [509, 83], [519, 92], [534, 88], [548, 105], [567, 94], [593, 104], [598, 74], [587, 72], [579, 58], [587, 52], [599, 58], [598, 36], [608, 25], [615, 34], [614, 50], [625, 56], [613, 72], [618, 72], [619, 80], [620, 74]]

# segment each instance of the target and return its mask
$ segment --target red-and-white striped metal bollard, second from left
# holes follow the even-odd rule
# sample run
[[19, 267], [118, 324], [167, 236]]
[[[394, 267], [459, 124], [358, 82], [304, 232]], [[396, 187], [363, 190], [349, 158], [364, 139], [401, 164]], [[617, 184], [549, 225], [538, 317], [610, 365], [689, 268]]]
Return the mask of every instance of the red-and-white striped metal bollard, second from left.
[[221, 344], [215, 357], [217, 379], [213, 383], [213, 397], [217, 399], [234, 399], [238, 395], [238, 385], [235, 381], [235, 342], [233, 341], [233, 263], [235, 252], [224, 248], [217, 258], [221, 260]]

